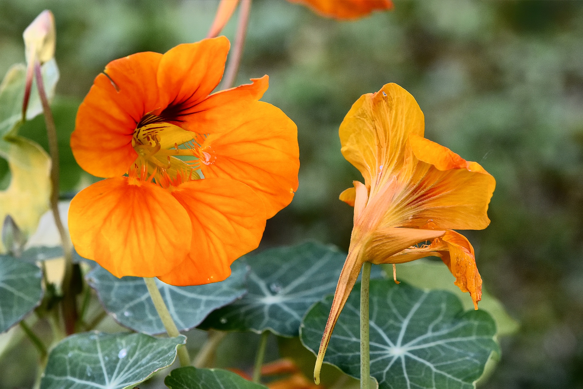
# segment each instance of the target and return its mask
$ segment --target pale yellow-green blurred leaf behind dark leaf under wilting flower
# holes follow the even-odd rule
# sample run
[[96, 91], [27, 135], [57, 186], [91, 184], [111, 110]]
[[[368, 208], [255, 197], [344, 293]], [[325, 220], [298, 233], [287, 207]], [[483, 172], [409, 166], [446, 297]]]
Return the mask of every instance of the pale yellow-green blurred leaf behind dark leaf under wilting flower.
[[[386, 266], [386, 265], [383, 265]], [[408, 282], [412, 286], [422, 289], [443, 289], [453, 292], [462, 300], [463, 307], [473, 309], [472, 297], [463, 293], [454, 284], [455, 277], [441, 261], [417, 260], [397, 265], [397, 279]], [[478, 303], [480, 310], [489, 313], [496, 322], [497, 335], [504, 337], [518, 331], [518, 322], [512, 318], [504, 306], [482, 288], [482, 300]]]

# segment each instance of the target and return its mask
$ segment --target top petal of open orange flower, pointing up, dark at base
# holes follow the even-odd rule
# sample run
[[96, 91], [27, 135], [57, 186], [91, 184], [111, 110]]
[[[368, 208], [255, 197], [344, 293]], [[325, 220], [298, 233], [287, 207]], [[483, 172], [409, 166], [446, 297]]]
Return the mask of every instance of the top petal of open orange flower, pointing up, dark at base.
[[190, 128], [196, 125], [190, 116], [197, 111], [196, 104], [219, 85], [229, 47], [229, 40], [221, 36], [179, 44], [163, 55], [157, 74], [161, 117], [196, 131]]

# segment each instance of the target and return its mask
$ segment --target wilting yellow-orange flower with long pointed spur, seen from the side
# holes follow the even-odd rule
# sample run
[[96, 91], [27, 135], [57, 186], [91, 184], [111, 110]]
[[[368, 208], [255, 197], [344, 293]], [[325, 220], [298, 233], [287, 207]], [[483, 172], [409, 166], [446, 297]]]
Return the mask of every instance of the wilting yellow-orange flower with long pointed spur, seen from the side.
[[[482, 279], [474, 250], [453, 229], [489, 225], [486, 212], [496, 180], [478, 163], [425, 139], [423, 132], [419, 105], [393, 83], [361, 96], [340, 125], [342, 155], [360, 170], [364, 184], [354, 181], [340, 194], [354, 206], [354, 227], [318, 352], [316, 383], [332, 330], [364, 262], [441, 257], [477, 309]], [[415, 246], [426, 241], [431, 244]]]

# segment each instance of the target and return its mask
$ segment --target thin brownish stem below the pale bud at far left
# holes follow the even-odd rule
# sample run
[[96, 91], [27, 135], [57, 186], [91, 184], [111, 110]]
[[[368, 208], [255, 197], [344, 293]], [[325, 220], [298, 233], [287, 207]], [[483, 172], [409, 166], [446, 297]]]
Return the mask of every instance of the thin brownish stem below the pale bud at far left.
[[77, 302], [75, 295], [71, 293], [71, 281], [73, 279], [72, 244], [61, 220], [61, 215], [59, 215], [59, 145], [57, 128], [55, 127], [55, 120], [52, 117], [51, 107], [48, 104], [47, 93], [44, 90], [43, 72], [38, 60], [34, 61], [34, 74], [36, 76], [38, 95], [43, 104], [44, 122], [47, 127], [48, 149], [51, 154], [51, 209], [52, 215], [55, 218], [55, 225], [61, 237], [65, 257], [65, 275], [62, 283], [62, 311], [65, 321], [65, 331], [68, 335], [71, 335], [75, 332]]

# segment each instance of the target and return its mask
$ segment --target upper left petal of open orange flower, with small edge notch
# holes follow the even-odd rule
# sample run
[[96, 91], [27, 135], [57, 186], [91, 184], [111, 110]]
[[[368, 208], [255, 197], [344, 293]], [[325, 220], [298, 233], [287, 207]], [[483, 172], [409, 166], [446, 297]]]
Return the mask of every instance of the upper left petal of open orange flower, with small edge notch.
[[138, 156], [132, 134], [156, 109], [156, 74], [162, 55], [139, 52], [110, 62], [79, 106], [71, 149], [79, 166], [97, 177], [125, 174]]

